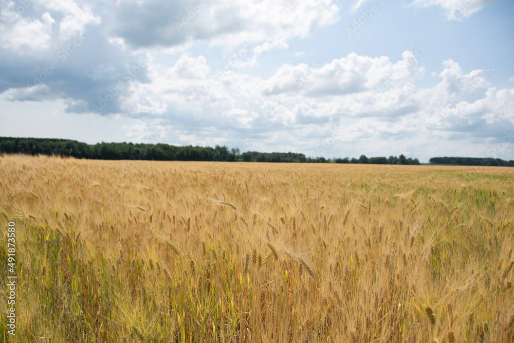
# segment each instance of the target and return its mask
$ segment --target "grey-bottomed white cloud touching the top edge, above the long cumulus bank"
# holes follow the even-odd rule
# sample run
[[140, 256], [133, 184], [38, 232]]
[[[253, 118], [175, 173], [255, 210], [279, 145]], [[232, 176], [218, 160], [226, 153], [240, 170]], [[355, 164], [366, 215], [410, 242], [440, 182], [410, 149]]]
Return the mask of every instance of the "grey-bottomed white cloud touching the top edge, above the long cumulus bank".
[[284, 4], [274, 0], [126, 0], [116, 12], [113, 30], [133, 47], [165, 48], [209, 40], [212, 46], [233, 48], [254, 40], [268, 50], [287, 47], [292, 37], [305, 37], [333, 24], [338, 12], [332, 0]]

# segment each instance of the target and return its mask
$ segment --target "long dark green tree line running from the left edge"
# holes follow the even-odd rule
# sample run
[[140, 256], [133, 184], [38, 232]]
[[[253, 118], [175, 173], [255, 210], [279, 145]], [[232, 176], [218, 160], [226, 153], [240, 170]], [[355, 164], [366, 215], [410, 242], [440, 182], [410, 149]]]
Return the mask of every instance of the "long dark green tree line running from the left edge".
[[70, 139], [55, 138], [15, 138], [0, 137], [0, 154], [57, 155], [88, 159], [144, 159], [160, 161], [245, 161], [245, 162], [289, 162], [289, 163], [362, 163], [390, 165], [419, 165], [417, 158], [366, 157], [326, 159], [324, 157], [306, 157], [292, 152], [256, 152], [241, 154], [240, 149], [225, 146], [211, 147], [177, 147], [168, 144], [146, 143], [96, 143], [88, 145]]

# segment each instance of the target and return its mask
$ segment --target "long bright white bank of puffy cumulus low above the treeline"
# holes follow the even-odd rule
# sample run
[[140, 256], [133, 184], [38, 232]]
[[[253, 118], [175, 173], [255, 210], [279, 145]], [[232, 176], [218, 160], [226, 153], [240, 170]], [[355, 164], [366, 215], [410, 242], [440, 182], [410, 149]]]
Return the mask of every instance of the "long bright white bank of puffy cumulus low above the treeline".
[[[415, 137], [485, 142], [514, 129], [514, 89], [490, 87], [486, 70], [466, 74], [452, 60], [444, 61], [436, 85], [418, 88], [420, 67], [411, 51], [396, 62], [351, 53], [310, 75], [313, 67], [306, 64], [283, 65], [268, 78], [229, 70], [203, 97], [196, 93], [210, 77], [203, 56], [182, 55], [166, 73], [159, 68], [152, 65], [150, 82], [136, 84], [124, 99], [125, 113], [148, 118], [143, 122], [177, 122], [176, 130], [188, 142], [232, 134], [251, 145], [314, 149], [313, 144], [334, 135], [334, 123], [353, 118], [337, 129], [333, 149], [356, 141], [362, 147], [397, 141], [402, 151], [412, 151], [409, 141], [417, 144]], [[302, 76], [302, 87], [287, 95]], [[278, 141], [277, 132], [287, 132], [287, 142]]]

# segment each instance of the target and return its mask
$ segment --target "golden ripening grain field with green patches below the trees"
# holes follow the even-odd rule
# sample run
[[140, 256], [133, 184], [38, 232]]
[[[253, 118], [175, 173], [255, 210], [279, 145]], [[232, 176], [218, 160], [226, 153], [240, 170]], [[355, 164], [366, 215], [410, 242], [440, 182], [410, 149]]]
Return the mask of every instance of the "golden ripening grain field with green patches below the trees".
[[514, 339], [512, 168], [7, 155], [0, 211], [3, 340]]

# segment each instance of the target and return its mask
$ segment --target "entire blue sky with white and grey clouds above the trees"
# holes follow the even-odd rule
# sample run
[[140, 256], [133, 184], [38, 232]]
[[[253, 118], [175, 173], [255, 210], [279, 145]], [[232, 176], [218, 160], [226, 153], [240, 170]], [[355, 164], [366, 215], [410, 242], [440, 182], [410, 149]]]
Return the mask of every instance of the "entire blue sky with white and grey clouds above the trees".
[[0, 1], [0, 136], [514, 159], [512, 0]]

